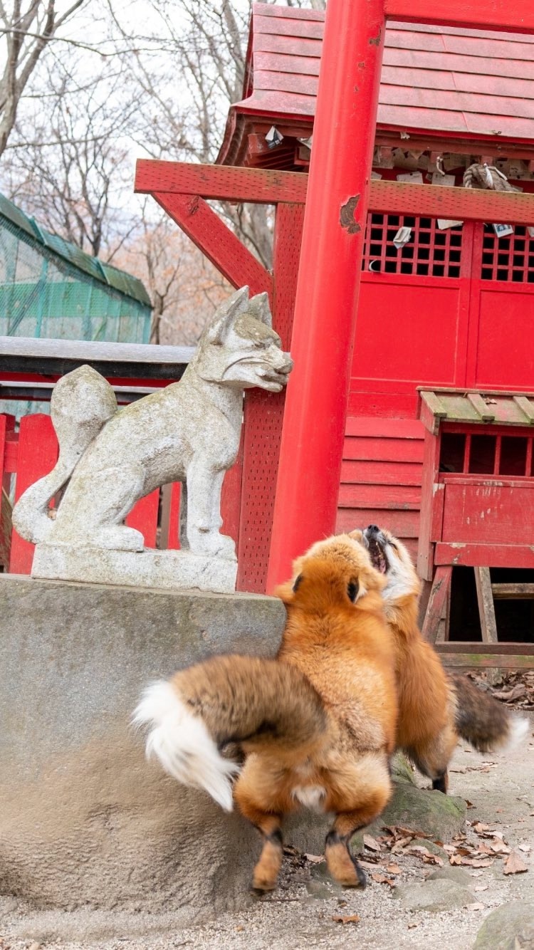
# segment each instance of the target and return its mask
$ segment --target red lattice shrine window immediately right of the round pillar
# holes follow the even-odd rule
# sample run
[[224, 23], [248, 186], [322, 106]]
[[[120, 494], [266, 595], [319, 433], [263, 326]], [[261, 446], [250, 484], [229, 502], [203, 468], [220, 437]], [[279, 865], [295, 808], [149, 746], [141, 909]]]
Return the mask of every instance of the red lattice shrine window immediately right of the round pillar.
[[[410, 239], [397, 249], [393, 238], [402, 227], [410, 228]], [[440, 231], [434, 218], [370, 214], [362, 268], [374, 274], [459, 277], [462, 237], [461, 227]]]

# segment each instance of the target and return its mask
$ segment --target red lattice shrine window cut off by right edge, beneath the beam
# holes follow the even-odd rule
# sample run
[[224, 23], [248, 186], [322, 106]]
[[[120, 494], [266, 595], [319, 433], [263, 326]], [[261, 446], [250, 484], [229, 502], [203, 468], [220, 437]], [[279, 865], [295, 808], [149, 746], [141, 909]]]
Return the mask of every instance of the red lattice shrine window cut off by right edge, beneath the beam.
[[523, 225], [514, 225], [513, 235], [497, 237], [486, 224], [481, 276], [483, 280], [534, 283], [534, 238]]

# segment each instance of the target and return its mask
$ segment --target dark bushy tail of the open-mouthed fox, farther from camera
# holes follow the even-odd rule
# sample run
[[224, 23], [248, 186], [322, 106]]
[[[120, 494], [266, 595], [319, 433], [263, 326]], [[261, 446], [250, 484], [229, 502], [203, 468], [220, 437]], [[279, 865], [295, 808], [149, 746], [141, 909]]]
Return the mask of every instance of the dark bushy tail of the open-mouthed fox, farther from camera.
[[449, 680], [456, 694], [456, 729], [474, 749], [513, 749], [524, 739], [527, 719], [507, 710], [490, 693], [483, 693], [467, 676], [450, 675]]

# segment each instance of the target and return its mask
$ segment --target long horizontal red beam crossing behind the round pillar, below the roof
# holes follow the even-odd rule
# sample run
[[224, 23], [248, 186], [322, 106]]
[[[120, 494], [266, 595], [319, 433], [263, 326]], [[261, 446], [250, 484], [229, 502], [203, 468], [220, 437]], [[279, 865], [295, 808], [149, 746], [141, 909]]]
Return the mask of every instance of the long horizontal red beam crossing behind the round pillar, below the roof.
[[[303, 204], [308, 176], [303, 172], [272, 172], [263, 168], [194, 165], [182, 161], [137, 163], [135, 190], [147, 194], [201, 195], [205, 199], [278, 201]], [[160, 201], [160, 203], [162, 203]], [[369, 207], [384, 214], [531, 224], [534, 195], [476, 188], [436, 188], [407, 181], [372, 180]]]

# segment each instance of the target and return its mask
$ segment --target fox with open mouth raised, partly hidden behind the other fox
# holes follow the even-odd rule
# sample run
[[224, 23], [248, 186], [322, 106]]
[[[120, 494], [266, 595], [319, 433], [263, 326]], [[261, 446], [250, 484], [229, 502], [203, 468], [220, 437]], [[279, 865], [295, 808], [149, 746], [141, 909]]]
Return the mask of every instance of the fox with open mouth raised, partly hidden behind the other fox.
[[513, 715], [467, 676], [446, 674], [439, 656], [417, 625], [421, 582], [405, 545], [385, 528], [370, 524], [351, 537], [369, 550], [386, 578], [382, 596], [395, 640], [399, 717], [396, 745], [447, 792], [448, 762], [462, 736], [480, 752], [520, 742], [528, 721]]

